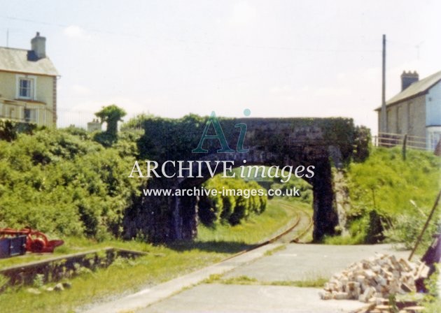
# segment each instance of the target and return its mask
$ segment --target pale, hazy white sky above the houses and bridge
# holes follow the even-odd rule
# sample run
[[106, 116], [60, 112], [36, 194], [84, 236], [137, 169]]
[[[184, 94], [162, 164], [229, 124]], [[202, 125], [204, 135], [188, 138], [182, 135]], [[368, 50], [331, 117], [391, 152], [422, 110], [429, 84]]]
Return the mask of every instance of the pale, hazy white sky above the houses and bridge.
[[58, 81], [58, 126], [102, 106], [182, 117], [351, 117], [377, 132], [402, 71], [441, 70], [441, 1], [0, 0], [0, 46], [36, 31]]

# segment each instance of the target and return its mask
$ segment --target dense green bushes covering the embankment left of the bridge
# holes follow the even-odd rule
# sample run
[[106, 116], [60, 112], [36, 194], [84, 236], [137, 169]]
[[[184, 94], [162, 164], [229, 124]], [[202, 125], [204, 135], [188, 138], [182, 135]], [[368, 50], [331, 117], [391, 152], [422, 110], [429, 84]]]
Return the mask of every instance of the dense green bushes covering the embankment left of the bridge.
[[129, 142], [104, 148], [78, 129], [14, 139], [0, 140], [0, 228], [120, 235], [124, 212], [139, 193], [138, 182], [127, 177], [134, 162]]

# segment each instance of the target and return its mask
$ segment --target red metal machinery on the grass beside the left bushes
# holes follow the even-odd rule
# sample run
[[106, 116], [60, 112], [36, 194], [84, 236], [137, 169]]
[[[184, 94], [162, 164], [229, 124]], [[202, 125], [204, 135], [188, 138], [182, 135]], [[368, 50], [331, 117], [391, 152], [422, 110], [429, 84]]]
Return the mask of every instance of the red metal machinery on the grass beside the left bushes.
[[0, 228], [0, 240], [18, 238], [26, 236], [26, 242], [23, 245], [25, 252], [54, 252], [55, 247], [64, 244], [63, 240], [48, 240], [44, 233], [31, 228], [23, 228], [20, 230], [12, 228]]

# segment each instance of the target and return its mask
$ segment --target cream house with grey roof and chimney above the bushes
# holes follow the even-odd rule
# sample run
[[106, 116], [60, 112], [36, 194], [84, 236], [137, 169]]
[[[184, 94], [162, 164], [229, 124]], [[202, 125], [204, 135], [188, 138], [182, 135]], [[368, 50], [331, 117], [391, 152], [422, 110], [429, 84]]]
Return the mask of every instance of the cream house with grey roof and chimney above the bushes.
[[0, 119], [57, 125], [59, 74], [46, 56], [45, 43], [36, 33], [30, 50], [0, 47]]

